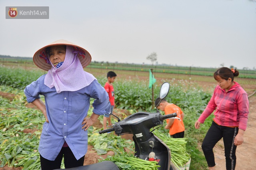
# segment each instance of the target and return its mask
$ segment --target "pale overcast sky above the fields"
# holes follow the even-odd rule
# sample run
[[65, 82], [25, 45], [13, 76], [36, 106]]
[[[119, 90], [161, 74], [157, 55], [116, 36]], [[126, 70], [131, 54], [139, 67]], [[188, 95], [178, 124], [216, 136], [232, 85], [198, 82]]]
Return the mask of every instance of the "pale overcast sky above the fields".
[[[49, 19], [5, 19], [49, 6]], [[92, 61], [256, 69], [256, 0], [0, 0], [0, 55], [32, 57], [64, 39]]]

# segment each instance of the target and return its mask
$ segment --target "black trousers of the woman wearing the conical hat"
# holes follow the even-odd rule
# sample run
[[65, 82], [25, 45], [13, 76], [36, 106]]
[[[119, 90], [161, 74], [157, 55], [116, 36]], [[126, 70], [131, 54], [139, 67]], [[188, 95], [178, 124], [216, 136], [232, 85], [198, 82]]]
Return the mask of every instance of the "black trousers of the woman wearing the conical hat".
[[74, 168], [84, 165], [84, 156], [79, 160], [76, 160], [74, 154], [69, 147], [62, 147], [60, 153], [55, 160], [48, 160], [40, 155], [41, 170], [60, 169], [63, 155], [65, 168]]

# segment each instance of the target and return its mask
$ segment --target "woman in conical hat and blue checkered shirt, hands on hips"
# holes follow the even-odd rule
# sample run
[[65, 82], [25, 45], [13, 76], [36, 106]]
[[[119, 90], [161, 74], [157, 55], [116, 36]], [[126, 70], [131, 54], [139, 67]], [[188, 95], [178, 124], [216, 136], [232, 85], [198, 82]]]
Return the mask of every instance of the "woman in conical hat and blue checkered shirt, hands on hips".
[[[108, 93], [83, 69], [91, 55], [74, 43], [58, 40], [36, 51], [33, 60], [48, 71], [24, 89], [28, 103], [38, 107], [46, 119], [38, 148], [41, 169], [59, 169], [63, 155], [65, 168], [83, 166], [87, 129], [100, 115], [110, 113]], [[90, 98], [95, 99], [94, 109], [87, 117]]]

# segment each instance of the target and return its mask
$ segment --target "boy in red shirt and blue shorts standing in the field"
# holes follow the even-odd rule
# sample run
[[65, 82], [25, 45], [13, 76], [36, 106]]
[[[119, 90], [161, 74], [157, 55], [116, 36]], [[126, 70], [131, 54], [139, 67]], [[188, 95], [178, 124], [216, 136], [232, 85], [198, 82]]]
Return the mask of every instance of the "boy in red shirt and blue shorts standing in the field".
[[[108, 93], [110, 105], [111, 105], [111, 113], [113, 112], [113, 108], [115, 107], [115, 95], [114, 95], [114, 87], [113, 82], [116, 79], [116, 73], [114, 71], [108, 71], [107, 73], [108, 81], [105, 83], [105, 90]], [[110, 115], [104, 115], [103, 117], [103, 128], [107, 128], [107, 121], [108, 121], [108, 127], [112, 127], [111, 118]]]

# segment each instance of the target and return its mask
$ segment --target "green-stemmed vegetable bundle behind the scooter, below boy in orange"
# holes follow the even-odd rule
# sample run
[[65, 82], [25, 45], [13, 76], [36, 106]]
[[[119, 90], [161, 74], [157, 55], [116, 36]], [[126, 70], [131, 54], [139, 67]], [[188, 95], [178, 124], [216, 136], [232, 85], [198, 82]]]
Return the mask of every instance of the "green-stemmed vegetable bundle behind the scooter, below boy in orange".
[[154, 134], [170, 148], [171, 161], [177, 168], [190, 160], [190, 155], [186, 151], [187, 138], [171, 138], [169, 133], [162, 133], [158, 130], [155, 130]]

